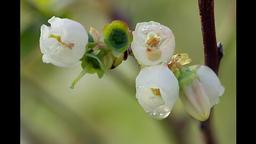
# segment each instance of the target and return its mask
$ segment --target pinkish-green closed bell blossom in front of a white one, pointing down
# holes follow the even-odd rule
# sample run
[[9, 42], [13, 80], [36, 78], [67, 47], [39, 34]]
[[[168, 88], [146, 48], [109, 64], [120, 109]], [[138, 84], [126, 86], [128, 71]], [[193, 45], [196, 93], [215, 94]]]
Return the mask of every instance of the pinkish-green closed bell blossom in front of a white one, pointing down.
[[185, 109], [199, 121], [206, 121], [211, 110], [210, 99], [198, 75], [186, 71], [179, 76], [178, 81], [179, 98]]

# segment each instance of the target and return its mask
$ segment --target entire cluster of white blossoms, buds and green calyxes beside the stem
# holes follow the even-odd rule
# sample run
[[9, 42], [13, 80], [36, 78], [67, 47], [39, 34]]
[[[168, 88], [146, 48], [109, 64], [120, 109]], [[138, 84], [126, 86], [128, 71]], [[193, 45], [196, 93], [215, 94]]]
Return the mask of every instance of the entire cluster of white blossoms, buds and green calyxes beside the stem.
[[71, 89], [86, 73], [101, 78], [132, 55], [141, 65], [135, 80], [136, 98], [151, 117], [166, 118], [180, 98], [191, 116], [205, 121], [224, 92], [211, 68], [184, 67], [192, 60], [186, 53], [173, 55], [172, 30], [158, 22], [137, 23], [131, 31], [127, 23], [115, 20], [103, 27], [102, 35], [69, 19], [52, 17], [48, 22], [51, 26], [41, 26], [39, 39], [43, 62], [59, 67], [81, 64], [83, 68], [69, 85]]

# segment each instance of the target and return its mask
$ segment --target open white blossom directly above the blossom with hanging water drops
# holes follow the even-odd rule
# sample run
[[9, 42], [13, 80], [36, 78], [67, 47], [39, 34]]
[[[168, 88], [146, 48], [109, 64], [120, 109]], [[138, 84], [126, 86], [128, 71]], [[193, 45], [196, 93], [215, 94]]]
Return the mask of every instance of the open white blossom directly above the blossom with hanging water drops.
[[153, 66], [171, 59], [175, 38], [170, 28], [154, 21], [141, 22], [132, 35], [132, 52], [141, 65]]

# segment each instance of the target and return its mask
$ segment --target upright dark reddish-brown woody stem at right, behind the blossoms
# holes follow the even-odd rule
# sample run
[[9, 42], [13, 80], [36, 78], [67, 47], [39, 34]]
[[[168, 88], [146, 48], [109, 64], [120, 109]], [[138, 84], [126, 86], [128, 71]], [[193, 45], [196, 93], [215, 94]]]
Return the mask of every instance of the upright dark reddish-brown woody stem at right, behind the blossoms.
[[[204, 45], [204, 62], [217, 75], [219, 70], [220, 60], [223, 56], [222, 45], [217, 46], [214, 23], [214, 1], [213, 0], [198, 0], [199, 14], [201, 17], [201, 28], [203, 34]], [[212, 114], [211, 110], [211, 114]], [[201, 130], [204, 135], [205, 143], [214, 144], [215, 135], [212, 130], [212, 115], [205, 122], [201, 122]]]

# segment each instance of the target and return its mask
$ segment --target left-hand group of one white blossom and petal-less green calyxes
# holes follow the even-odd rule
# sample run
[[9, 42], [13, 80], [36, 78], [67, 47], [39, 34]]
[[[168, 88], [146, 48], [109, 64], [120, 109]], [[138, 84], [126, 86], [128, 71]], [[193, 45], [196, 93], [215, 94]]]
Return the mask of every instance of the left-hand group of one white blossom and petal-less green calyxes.
[[129, 26], [121, 20], [113, 21], [102, 29], [86, 29], [73, 20], [52, 17], [50, 27], [41, 26], [39, 39], [43, 62], [58, 67], [72, 67], [81, 64], [83, 70], [69, 86], [71, 89], [86, 73], [97, 73], [101, 78], [109, 69], [116, 68], [126, 60], [132, 43]]

